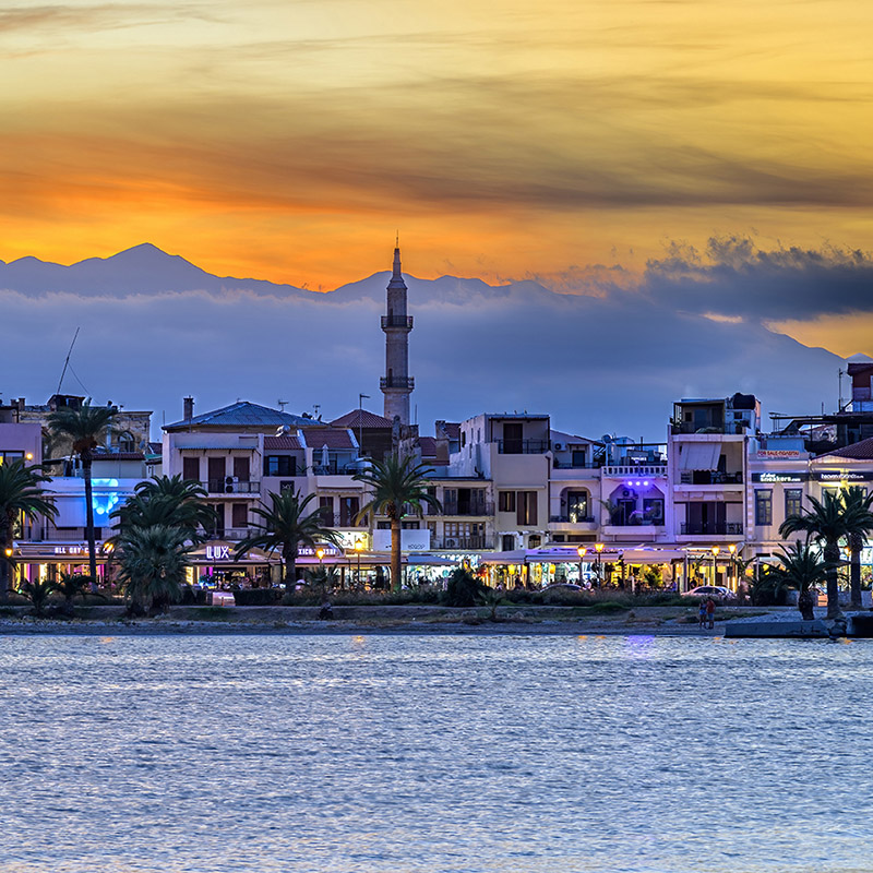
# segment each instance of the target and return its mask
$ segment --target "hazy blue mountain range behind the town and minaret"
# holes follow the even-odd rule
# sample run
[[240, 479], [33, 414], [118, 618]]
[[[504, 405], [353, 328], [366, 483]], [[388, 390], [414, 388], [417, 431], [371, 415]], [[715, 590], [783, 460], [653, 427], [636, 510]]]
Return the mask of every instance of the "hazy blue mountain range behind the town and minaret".
[[[842, 359], [755, 320], [679, 311], [633, 288], [571, 295], [530, 280], [404, 276], [423, 433], [433, 418], [527, 409], [584, 435], [661, 439], [681, 397], [751, 392], [798, 414], [836, 405]], [[202, 411], [241, 397], [284, 399], [298, 411], [318, 405], [333, 417], [357, 406], [359, 393], [381, 411], [388, 277], [322, 294], [215, 276], [148, 243], [70, 266], [0, 262], [9, 325], [0, 390], [49, 396], [81, 326], [65, 390], [124, 397], [167, 420], [188, 393]]]

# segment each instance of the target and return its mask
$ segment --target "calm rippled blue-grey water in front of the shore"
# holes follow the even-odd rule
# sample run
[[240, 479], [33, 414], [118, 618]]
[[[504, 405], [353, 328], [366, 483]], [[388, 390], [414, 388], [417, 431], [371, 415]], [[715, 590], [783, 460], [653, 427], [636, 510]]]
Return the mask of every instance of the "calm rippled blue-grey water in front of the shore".
[[0, 870], [870, 871], [873, 644], [0, 638]]

